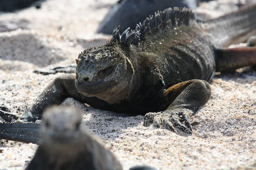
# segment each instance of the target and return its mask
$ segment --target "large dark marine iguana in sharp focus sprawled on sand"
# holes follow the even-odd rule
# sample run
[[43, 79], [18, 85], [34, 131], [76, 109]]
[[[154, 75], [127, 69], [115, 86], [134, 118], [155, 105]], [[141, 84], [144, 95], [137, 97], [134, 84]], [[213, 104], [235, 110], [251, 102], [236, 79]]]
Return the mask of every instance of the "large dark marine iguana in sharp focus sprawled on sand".
[[72, 97], [94, 108], [145, 114], [145, 126], [192, 133], [189, 117], [209, 100], [215, 71], [256, 65], [256, 48], [225, 48], [256, 34], [255, 16], [256, 4], [207, 22], [188, 8], [168, 8], [135, 30], [119, 34], [117, 27], [107, 44], [81, 52], [76, 75], [54, 79], [21, 119], [41, 119], [46, 108]]

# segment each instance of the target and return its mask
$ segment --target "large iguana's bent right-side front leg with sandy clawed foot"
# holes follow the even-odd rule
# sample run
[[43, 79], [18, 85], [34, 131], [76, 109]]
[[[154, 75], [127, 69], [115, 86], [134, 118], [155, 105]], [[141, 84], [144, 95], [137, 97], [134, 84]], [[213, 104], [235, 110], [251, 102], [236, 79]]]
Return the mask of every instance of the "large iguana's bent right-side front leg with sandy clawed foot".
[[[204, 80], [193, 79], [178, 83], [163, 92], [163, 102], [169, 107], [161, 113], [147, 113], [144, 125], [151, 123], [155, 127], [165, 127], [176, 132], [175, 127], [186, 133], [192, 133], [189, 117], [195, 114], [209, 100], [211, 88]], [[184, 122], [182, 124], [181, 122]]]

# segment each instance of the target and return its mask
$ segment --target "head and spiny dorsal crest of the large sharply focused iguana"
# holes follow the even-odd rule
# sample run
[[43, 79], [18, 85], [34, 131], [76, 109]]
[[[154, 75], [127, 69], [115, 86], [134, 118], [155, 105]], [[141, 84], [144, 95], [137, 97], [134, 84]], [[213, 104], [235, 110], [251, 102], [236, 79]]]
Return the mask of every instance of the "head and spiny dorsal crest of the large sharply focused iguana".
[[[188, 24], [192, 16], [192, 11], [187, 8], [168, 8], [149, 16], [143, 24], [137, 24], [135, 30], [128, 28], [119, 34], [119, 27], [114, 28], [111, 41], [106, 45], [84, 50], [76, 59], [77, 91], [111, 104], [128, 98], [132, 85], [136, 84], [133, 83], [134, 74], [141, 74], [134, 73], [133, 67], [140, 44], [147, 36], [154, 34], [154, 30], [164, 29], [167, 21], [170, 23], [168, 26], [174, 28]], [[143, 71], [140, 68], [138, 70]]]

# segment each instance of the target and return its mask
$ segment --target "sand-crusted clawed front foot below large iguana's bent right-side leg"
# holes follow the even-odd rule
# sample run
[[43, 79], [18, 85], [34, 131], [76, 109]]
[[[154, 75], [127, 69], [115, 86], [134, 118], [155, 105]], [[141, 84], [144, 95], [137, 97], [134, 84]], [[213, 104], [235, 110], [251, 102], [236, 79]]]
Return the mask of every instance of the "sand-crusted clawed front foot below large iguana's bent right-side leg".
[[[185, 133], [193, 133], [189, 116], [193, 111], [189, 109], [175, 109], [157, 113], [147, 113], [144, 117], [144, 126], [149, 126], [153, 123], [154, 127], [166, 128], [176, 133], [175, 127]], [[184, 124], [182, 123], [184, 122]]]

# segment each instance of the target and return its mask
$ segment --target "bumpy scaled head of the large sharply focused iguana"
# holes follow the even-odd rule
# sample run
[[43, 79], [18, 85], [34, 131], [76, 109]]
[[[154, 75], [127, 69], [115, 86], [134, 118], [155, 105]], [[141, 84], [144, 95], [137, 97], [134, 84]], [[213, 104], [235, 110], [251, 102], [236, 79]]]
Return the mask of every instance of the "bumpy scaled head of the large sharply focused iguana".
[[75, 85], [79, 93], [109, 103], [128, 97], [134, 70], [130, 60], [116, 46], [103, 45], [84, 50], [76, 64]]

